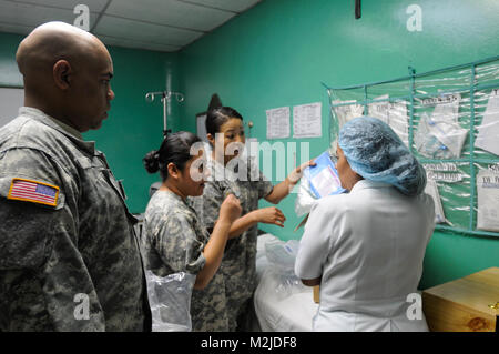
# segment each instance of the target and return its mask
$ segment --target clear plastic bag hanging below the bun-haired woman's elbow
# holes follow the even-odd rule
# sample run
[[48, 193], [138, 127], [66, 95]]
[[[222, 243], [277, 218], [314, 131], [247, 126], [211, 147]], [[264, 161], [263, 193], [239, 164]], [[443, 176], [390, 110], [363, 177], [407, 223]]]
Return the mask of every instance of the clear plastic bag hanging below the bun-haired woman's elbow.
[[196, 276], [185, 272], [157, 276], [145, 272], [153, 332], [191, 332], [191, 296]]

